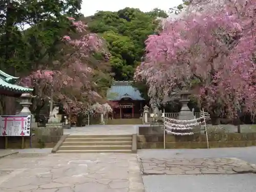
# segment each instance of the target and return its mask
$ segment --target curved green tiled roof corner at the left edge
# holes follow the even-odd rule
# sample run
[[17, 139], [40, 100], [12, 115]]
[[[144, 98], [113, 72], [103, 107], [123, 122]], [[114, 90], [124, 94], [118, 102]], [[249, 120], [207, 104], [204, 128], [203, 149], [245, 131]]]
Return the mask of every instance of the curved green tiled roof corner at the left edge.
[[24, 88], [22, 86], [17, 86], [16, 84], [14, 84], [17, 79], [19, 79], [19, 77], [13, 77], [0, 70], [0, 88], [18, 93], [26, 93], [33, 91], [33, 89]]

